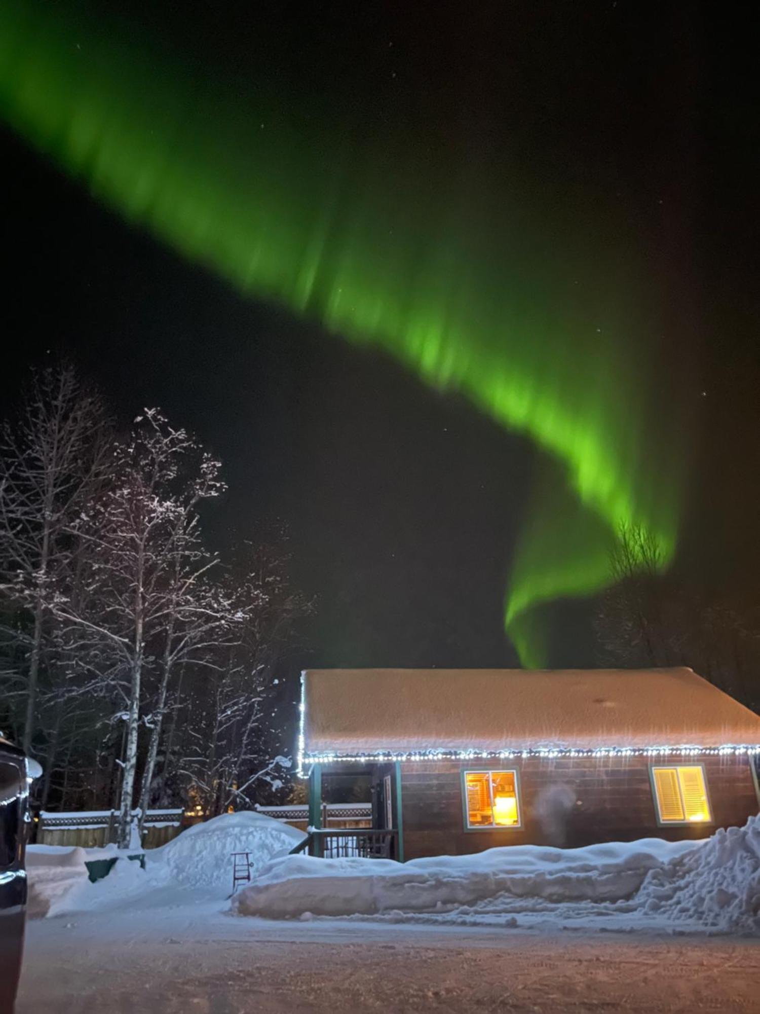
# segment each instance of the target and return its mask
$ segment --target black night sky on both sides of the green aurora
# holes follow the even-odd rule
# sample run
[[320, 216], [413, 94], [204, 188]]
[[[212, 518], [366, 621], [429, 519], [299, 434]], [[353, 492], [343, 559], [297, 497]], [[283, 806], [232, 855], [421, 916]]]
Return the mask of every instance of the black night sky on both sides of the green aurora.
[[[120, 5], [226, 80], [245, 82], [255, 64], [285, 95], [397, 114], [401, 129], [422, 110], [474, 160], [504, 147], [499, 110], [511, 96], [509, 140], [536, 173], [573, 174], [600, 200], [624, 179], [623, 213], [644, 236], [667, 192], [672, 242], [652, 271], [689, 311], [659, 339], [658, 389], [693, 397], [696, 414], [676, 567], [751, 603], [760, 138], [750, 41], [728, 15], [688, 3], [470, 6], [325, 3], [304, 16], [274, 3]], [[674, 107], [683, 131], [672, 134], [658, 111]], [[530, 443], [384, 354], [242, 299], [10, 133], [0, 142], [11, 389], [48, 350], [64, 352], [125, 419], [160, 405], [195, 430], [230, 487], [209, 516], [218, 545], [254, 537], [268, 519], [290, 529], [294, 577], [318, 596], [303, 662], [515, 664], [502, 603]], [[555, 608], [555, 664], [593, 663], [589, 608]]]

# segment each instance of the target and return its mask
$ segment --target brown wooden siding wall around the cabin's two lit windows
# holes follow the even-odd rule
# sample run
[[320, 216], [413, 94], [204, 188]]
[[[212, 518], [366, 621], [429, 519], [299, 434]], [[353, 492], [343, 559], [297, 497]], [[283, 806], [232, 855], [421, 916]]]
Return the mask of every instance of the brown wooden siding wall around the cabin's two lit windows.
[[[526, 757], [501, 765], [477, 760], [405, 763], [401, 765], [405, 858], [463, 855], [504, 845], [577, 848], [637, 838], [704, 838], [715, 827], [741, 825], [758, 812], [748, 757], [702, 756], [691, 763], [704, 766], [711, 824], [658, 824], [649, 757]], [[461, 773], [488, 769], [519, 773], [521, 828], [464, 829]], [[568, 787], [580, 803], [559, 822], [559, 834], [539, 817], [542, 799], [557, 786]]]

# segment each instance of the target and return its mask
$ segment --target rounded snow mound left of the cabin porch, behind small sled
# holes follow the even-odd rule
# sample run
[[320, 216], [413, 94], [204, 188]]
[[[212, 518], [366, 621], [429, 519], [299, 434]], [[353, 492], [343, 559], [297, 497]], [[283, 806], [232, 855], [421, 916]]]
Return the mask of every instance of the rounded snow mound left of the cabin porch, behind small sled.
[[160, 849], [146, 852], [149, 870], [163, 864], [167, 876], [187, 887], [232, 889], [232, 853], [247, 852], [251, 877], [270, 860], [287, 856], [306, 836], [297, 827], [246, 810], [194, 824]]

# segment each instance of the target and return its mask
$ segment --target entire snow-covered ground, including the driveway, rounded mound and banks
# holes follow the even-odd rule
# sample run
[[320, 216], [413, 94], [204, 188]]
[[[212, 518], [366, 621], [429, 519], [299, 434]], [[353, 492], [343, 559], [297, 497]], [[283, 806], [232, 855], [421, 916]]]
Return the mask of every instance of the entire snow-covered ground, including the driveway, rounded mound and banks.
[[[760, 817], [696, 844], [404, 866], [277, 858], [301, 835], [273, 824], [220, 817], [95, 884], [89, 853], [32, 850], [49, 907], [18, 1014], [760, 1011]], [[256, 879], [231, 903], [233, 851]]]

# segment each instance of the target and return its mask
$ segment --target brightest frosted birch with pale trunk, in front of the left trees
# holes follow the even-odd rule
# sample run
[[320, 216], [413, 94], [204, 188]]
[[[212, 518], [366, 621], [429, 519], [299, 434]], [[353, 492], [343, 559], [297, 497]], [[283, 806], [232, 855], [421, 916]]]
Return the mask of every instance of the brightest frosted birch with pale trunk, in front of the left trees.
[[[131, 843], [144, 677], [152, 643], [175, 618], [177, 594], [186, 592], [208, 561], [196, 532], [196, 506], [223, 486], [219, 463], [158, 410], [136, 420], [120, 447], [115, 480], [79, 531], [90, 554], [89, 595], [80, 611], [59, 599], [56, 614], [87, 643], [96, 683], [116, 689], [127, 724], [118, 843]], [[177, 592], [177, 581], [180, 591]], [[84, 647], [84, 643], [82, 644]]]

